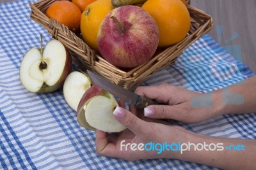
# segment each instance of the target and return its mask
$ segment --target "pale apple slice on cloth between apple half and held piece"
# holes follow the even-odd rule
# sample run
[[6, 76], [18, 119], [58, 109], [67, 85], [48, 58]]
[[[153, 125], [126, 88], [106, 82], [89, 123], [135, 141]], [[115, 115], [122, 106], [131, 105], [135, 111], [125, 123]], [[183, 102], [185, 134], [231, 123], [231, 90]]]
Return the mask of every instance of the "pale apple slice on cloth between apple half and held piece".
[[91, 87], [91, 80], [86, 73], [73, 71], [68, 74], [63, 85], [64, 98], [73, 110], [77, 111], [77, 106], [86, 90]]

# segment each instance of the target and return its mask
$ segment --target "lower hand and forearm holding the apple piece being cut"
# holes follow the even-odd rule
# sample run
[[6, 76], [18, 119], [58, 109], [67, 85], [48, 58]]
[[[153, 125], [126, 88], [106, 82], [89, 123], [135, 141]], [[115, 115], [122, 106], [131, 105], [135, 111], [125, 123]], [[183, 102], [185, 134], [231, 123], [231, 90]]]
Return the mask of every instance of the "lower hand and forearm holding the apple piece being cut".
[[[255, 140], [203, 136], [166, 122], [147, 122], [150, 119], [142, 120], [124, 108], [116, 108], [113, 114], [127, 129], [119, 135], [97, 130], [96, 150], [99, 155], [125, 160], [179, 159], [221, 169], [255, 169]], [[147, 143], [154, 143], [155, 150], [145, 150], [141, 146]], [[169, 148], [163, 149], [163, 145], [156, 146], [157, 143], [167, 143]], [[179, 143], [180, 149], [170, 149], [173, 143]], [[222, 150], [217, 150], [218, 145], [223, 147]], [[232, 149], [226, 150], [225, 146]], [[233, 146], [238, 146], [239, 150]]]

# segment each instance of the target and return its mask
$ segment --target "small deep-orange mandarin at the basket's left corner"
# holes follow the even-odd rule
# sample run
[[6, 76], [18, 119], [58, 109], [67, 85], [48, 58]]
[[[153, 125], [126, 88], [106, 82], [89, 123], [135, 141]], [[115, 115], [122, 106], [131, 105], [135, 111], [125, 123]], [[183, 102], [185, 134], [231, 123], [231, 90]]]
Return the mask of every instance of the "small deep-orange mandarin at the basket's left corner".
[[64, 24], [72, 32], [79, 32], [81, 11], [70, 1], [56, 1], [46, 10], [46, 16]]

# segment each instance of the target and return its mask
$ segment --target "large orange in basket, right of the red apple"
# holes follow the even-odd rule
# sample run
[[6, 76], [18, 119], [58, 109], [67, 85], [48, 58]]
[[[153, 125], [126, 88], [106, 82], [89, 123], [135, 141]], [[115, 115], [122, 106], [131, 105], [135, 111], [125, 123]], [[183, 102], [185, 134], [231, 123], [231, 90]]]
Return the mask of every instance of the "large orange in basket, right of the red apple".
[[170, 46], [186, 37], [190, 16], [180, 0], [148, 0], [141, 7], [156, 20], [159, 28], [159, 45]]

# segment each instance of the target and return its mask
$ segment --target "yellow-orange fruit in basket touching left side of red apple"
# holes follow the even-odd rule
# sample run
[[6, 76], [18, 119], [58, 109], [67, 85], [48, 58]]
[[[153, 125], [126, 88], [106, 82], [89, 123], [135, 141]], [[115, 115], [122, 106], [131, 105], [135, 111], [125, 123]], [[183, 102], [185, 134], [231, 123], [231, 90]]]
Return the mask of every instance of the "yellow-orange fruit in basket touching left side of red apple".
[[97, 0], [89, 4], [81, 15], [81, 33], [84, 42], [95, 51], [98, 50], [97, 34], [102, 20], [113, 10], [111, 0]]

